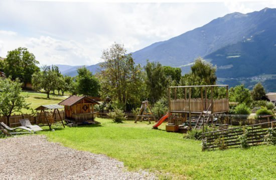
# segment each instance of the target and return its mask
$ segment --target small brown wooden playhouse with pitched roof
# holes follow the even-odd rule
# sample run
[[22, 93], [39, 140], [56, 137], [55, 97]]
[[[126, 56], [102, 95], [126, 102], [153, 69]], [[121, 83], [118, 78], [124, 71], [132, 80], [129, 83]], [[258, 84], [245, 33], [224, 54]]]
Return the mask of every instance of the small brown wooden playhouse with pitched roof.
[[64, 105], [65, 121], [73, 124], [95, 123], [94, 105], [96, 100], [87, 96], [72, 95], [59, 103]]

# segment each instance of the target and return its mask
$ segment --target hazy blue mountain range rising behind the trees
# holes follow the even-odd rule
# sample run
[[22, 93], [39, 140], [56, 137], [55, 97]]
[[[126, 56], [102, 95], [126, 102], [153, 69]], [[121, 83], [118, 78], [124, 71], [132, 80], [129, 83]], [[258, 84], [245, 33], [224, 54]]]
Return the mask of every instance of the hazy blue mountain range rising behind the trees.
[[[252, 88], [261, 81], [267, 91], [276, 91], [276, 9], [226, 14], [131, 54], [135, 63], [158, 61], [181, 67], [183, 73], [201, 56], [217, 66], [219, 83], [244, 83]], [[64, 67], [62, 73], [76, 75], [77, 67]], [[87, 66], [92, 72], [97, 67]]]

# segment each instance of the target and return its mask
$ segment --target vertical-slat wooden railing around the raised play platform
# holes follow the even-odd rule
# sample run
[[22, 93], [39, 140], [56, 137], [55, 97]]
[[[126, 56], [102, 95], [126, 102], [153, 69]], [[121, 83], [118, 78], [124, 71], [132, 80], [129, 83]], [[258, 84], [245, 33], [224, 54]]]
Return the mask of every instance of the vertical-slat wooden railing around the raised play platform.
[[[201, 98], [191, 99], [190, 102], [191, 112], [202, 112], [207, 110], [211, 104], [211, 100], [203, 100]], [[189, 100], [188, 99], [174, 99], [170, 100], [170, 109], [171, 111], [189, 111]], [[229, 101], [228, 99], [215, 99], [213, 100], [213, 113], [217, 112], [226, 112], [229, 110]]]

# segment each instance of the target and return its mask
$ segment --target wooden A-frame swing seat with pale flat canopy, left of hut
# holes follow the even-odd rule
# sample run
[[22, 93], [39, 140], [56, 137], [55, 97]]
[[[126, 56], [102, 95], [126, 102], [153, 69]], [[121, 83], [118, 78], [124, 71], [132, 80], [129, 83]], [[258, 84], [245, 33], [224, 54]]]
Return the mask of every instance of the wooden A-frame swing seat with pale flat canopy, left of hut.
[[[44, 118], [45, 118], [46, 121], [47, 121], [47, 124], [43, 124], [43, 125], [48, 125], [49, 128], [50, 128], [50, 130], [52, 129], [52, 128], [51, 128], [51, 125], [52, 125], [53, 123], [62, 123], [63, 127], [65, 127], [64, 122], [63, 122], [63, 120], [62, 120], [62, 118], [61, 118], [61, 115], [60, 115], [60, 112], [59, 112], [59, 108], [63, 108], [63, 106], [61, 106], [61, 105], [59, 105], [59, 104], [49, 104], [49, 105], [40, 105], [39, 107], [37, 107], [36, 110], [40, 110], [39, 122], [43, 122], [43, 121], [41, 120], [41, 116], [42, 116], [42, 112], [43, 112]], [[57, 121], [56, 121], [56, 122], [52, 122], [52, 121], [50, 121], [50, 119], [47, 117], [47, 114], [46, 114], [46, 111], [45, 111], [45, 110], [48, 110], [48, 109], [51, 109], [51, 110], [54, 109], [53, 115], [52, 115], [52, 117], [50, 117], [50, 118], [52, 118], [53, 121], [54, 121], [54, 115], [55, 115], [55, 112], [57, 111], [57, 112], [58, 112], [58, 115], [59, 115], [59, 117], [60, 117], [61, 122], [57, 122]]]

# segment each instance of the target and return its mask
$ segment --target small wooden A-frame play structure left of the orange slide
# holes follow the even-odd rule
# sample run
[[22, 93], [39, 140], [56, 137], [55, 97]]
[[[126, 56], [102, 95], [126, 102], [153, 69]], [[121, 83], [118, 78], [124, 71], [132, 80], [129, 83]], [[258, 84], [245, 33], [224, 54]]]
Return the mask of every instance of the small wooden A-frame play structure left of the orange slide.
[[143, 119], [148, 120], [149, 123], [151, 123], [151, 119], [156, 121], [155, 116], [153, 115], [153, 112], [152, 112], [152, 109], [151, 109], [151, 106], [150, 106], [148, 100], [145, 100], [145, 101], [142, 102], [140, 111], [137, 114], [136, 119], [135, 119], [134, 122], [136, 123], [138, 120], [140, 120], [142, 122]]

